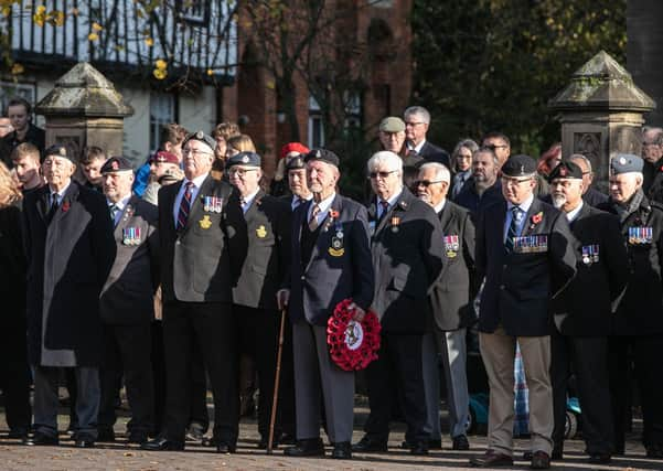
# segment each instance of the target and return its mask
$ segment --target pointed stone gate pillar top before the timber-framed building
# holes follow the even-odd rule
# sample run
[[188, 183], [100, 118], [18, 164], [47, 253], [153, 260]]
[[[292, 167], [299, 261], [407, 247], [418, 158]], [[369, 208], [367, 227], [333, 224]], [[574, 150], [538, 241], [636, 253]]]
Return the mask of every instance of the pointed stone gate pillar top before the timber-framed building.
[[55, 82], [36, 113], [46, 118], [46, 147], [67, 143], [81, 152], [97, 146], [121, 156], [124, 119], [133, 108], [99, 71], [81, 62]]

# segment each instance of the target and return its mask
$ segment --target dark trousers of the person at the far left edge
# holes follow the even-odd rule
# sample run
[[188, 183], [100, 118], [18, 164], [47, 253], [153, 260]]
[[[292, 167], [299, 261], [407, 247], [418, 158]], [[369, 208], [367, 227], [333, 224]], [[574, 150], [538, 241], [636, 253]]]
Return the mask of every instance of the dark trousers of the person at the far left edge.
[[[30, 370], [28, 366], [28, 345], [25, 338], [25, 313], [7, 309], [9, 318], [22, 319], [21, 322], [4, 322], [0, 341], [0, 387], [4, 399], [7, 425], [11, 430], [28, 431], [32, 418], [30, 407]], [[24, 308], [21, 308], [24, 311]]]

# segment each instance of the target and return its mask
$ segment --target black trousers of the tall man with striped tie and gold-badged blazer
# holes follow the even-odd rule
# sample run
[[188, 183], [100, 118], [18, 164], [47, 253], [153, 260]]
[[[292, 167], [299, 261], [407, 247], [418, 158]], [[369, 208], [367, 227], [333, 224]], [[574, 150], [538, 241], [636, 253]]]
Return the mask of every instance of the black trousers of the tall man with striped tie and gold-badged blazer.
[[163, 304], [165, 352], [165, 436], [183, 441], [190, 419], [192, 346], [197, 344], [210, 374], [214, 395], [214, 437], [228, 445], [237, 441], [237, 327], [232, 306], [221, 302]]

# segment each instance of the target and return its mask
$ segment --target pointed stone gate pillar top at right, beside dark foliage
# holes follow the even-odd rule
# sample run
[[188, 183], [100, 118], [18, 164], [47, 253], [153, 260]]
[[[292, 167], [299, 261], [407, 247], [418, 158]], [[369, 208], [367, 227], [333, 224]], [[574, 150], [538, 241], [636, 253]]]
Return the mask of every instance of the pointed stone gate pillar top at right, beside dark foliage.
[[640, 156], [644, 113], [656, 104], [617, 61], [601, 51], [582, 65], [548, 107], [562, 122], [562, 154], [581, 153], [591, 161], [595, 185], [608, 191], [610, 157]]

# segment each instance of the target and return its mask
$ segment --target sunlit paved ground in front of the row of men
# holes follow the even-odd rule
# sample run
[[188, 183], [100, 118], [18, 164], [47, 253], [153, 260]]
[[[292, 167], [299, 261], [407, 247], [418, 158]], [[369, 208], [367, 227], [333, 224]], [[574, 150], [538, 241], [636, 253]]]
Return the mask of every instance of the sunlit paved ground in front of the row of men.
[[[360, 422], [365, 419], [366, 410], [357, 407], [354, 439], [362, 436]], [[62, 428], [67, 419], [61, 416]], [[4, 418], [0, 417], [0, 424]], [[60, 447], [24, 447], [18, 440], [7, 438], [7, 430], [0, 429], [0, 470], [111, 470], [111, 471], [158, 471], [158, 470], [463, 470], [468, 468], [468, 459], [474, 453], [485, 451], [485, 437], [472, 436], [472, 450], [457, 452], [450, 450], [449, 440], [443, 450], [432, 451], [426, 458], [413, 458], [398, 447], [403, 440], [403, 427], [396, 425], [392, 433], [388, 453], [355, 454], [351, 461], [332, 461], [330, 459], [290, 459], [281, 450], [275, 450], [267, 456], [264, 450], [257, 450], [258, 439], [255, 420], [243, 420], [240, 428], [239, 449], [235, 454], [216, 454], [212, 449], [196, 445], [188, 445], [182, 452], [145, 452], [135, 445], [125, 441], [126, 418], [120, 419], [116, 427], [118, 441], [99, 443], [97, 448], [78, 450], [71, 448], [71, 441], [62, 435]], [[610, 465], [592, 467], [586, 463], [582, 454], [581, 440], [569, 440], [565, 447], [565, 459], [553, 463], [553, 469], [571, 470], [663, 470], [663, 461], [648, 460], [644, 450], [638, 442], [638, 429], [629, 437], [627, 454], [618, 457]], [[516, 440], [517, 454], [527, 447], [526, 440]], [[525, 470], [528, 463], [516, 461], [515, 470]]]

